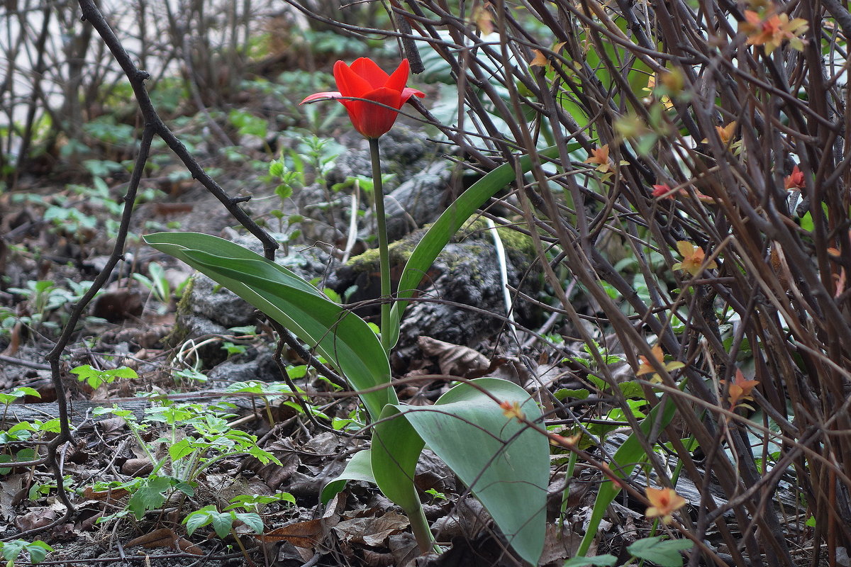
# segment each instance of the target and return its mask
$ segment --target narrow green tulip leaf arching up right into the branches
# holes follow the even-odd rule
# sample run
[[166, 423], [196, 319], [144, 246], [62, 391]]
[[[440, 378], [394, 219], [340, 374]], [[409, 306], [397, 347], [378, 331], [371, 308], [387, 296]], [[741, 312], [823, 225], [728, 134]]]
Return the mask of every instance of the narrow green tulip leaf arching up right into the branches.
[[[580, 144], [568, 144], [568, 151], [578, 150], [580, 147]], [[538, 154], [552, 159], [558, 156], [558, 148], [551, 146], [545, 150], [540, 150]], [[482, 179], [472, 184], [470, 189], [461, 193], [440, 215], [440, 218], [437, 218], [437, 221], [431, 225], [426, 235], [414, 248], [414, 252], [411, 252], [411, 256], [405, 264], [402, 278], [399, 280], [398, 301], [393, 303], [391, 310], [390, 332], [393, 336], [391, 345], [395, 345], [399, 339], [399, 321], [402, 320], [402, 315], [408, 306], [408, 299], [413, 297], [423, 275], [431, 268], [431, 264], [434, 263], [437, 255], [472, 214], [476, 213], [478, 208], [482, 207], [490, 197], [496, 195], [505, 185], [517, 179], [517, 173], [511, 165], [511, 163], [504, 163], [500, 167], [496, 167], [494, 171], [489, 172]], [[530, 156], [521, 157], [520, 169], [523, 173], [528, 172], [531, 168]]]

